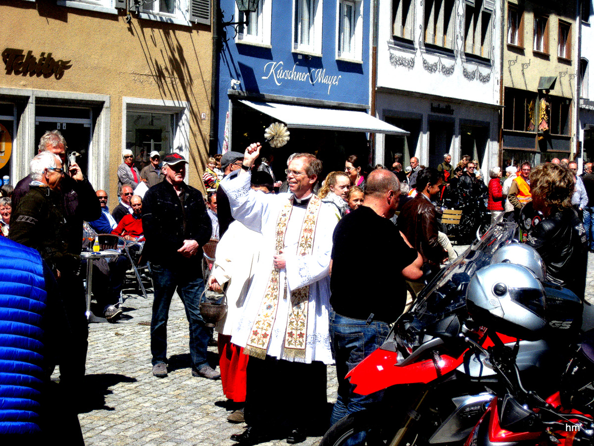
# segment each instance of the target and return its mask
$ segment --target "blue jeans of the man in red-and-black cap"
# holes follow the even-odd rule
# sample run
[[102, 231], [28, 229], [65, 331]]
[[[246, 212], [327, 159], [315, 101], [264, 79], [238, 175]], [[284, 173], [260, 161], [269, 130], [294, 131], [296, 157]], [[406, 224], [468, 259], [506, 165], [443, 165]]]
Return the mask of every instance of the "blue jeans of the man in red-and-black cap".
[[206, 347], [208, 331], [200, 315], [200, 295], [204, 280], [198, 268], [181, 265], [151, 264], [154, 285], [153, 318], [150, 326], [150, 350], [153, 365], [167, 362], [167, 321], [169, 306], [175, 290], [184, 303], [189, 322], [189, 353], [192, 368], [199, 370], [208, 365]]

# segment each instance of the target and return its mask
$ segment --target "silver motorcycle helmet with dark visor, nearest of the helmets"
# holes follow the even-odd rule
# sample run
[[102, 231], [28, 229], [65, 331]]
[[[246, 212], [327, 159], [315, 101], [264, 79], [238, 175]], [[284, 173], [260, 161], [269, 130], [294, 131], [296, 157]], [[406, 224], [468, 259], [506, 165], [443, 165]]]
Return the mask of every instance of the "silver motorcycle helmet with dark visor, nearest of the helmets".
[[475, 322], [527, 341], [544, 337], [545, 293], [530, 269], [495, 263], [479, 269], [466, 289], [466, 306]]

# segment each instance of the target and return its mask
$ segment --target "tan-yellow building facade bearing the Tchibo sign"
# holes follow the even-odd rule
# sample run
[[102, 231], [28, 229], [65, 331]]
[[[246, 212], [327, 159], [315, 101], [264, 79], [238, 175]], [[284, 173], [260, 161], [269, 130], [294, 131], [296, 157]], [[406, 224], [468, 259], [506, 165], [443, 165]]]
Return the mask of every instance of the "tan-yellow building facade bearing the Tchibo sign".
[[0, 2], [7, 19], [0, 30], [0, 131], [10, 149], [0, 154], [4, 181], [14, 185], [29, 174], [39, 137], [57, 128], [112, 206], [123, 149], [134, 152], [139, 170], [153, 150], [179, 152], [189, 161], [187, 182], [203, 189], [210, 10], [197, 23], [194, 1], [142, 3]]

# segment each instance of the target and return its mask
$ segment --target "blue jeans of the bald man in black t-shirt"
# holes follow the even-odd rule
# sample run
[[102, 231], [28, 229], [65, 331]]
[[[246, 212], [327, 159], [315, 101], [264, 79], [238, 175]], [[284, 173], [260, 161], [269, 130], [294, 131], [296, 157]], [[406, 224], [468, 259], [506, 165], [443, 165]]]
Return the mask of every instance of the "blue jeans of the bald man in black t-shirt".
[[345, 379], [365, 357], [384, 343], [390, 327], [386, 322], [374, 321], [369, 324], [361, 319], [351, 319], [330, 312], [330, 342], [336, 360], [338, 378], [338, 397], [334, 403], [331, 425], [342, 417], [380, 401], [384, 392], [359, 395], [353, 392], [354, 385]]

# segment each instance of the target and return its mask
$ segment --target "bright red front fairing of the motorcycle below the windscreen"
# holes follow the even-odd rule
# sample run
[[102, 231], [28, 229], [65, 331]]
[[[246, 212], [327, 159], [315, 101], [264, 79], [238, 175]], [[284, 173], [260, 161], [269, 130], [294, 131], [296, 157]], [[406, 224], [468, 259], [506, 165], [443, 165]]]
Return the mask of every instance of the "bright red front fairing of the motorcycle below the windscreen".
[[346, 374], [355, 393], [369, 395], [395, 384], [427, 384], [462, 364], [464, 353], [454, 358], [443, 354], [439, 360], [425, 359], [403, 367], [397, 366], [398, 353], [378, 348]]

